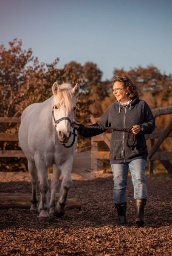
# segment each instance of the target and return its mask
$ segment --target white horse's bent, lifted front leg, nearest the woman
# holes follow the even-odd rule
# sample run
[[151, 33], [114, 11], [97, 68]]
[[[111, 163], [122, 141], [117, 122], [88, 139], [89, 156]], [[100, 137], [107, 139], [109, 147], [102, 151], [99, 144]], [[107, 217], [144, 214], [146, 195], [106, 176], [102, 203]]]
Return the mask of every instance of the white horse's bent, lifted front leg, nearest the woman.
[[56, 204], [55, 215], [62, 217], [65, 214], [68, 192], [72, 184], [71, 171], [73, 165], [73, 157], [69, 157], [60, 166], [62, 172], [62, 184], [60, 188], [59, 200]]

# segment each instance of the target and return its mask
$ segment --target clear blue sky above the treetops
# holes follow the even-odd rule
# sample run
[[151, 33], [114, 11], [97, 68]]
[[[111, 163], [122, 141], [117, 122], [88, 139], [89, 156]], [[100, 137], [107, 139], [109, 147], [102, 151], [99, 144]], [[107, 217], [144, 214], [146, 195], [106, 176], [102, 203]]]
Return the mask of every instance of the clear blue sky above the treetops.
[[171, 0], [0, 0], [0, 44], [22, 39], [39, 61], [58, 67], [93, 61], [103, 79], [114, 68], [172, 73]]

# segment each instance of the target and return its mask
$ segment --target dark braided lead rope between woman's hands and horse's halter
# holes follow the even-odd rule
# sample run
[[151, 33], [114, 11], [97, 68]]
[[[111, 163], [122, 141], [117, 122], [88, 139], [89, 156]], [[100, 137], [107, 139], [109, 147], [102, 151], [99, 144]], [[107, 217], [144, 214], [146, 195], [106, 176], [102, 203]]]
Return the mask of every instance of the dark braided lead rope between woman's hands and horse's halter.
[[[131, 128], [116, 128], [116, 127], [113, 127], [113, 126], [108, 127], [108, 126], [92, 126], [92, 125], [81, 125], [81, 124], [76, 124], [76, 125], [79, 125], [79, 126], [82, 126], [82, 127], [85, 127], [85, 128], [90, 128], [90, 129], [103, 129], [103, 130], [108, 130], [108, 129], [110, 129], [110, 130], [112, 130], [112, 131], [127, 131], [127, 142], [126, 142], [127, 147], [131, 148], [131, 147], [133, 147], [133, 146], [135, 145], [135, 141], [136, 141], [136, 136], [135, 136], [135, 134], [133, 134], [132, 143], [131, 143], [131, 145], [129, 145], [130, 131], [131, 131], [131, 129], [132, 129], [133, 126], [132, 126]], [[69, 146], [66, 146], [65, 143], [62, 143], [62, 145], [63, 145], [65, 148], [70, 148], [70, 147], [73, 146], [73, 144], [74, 144], [74, 142], [75, 142], [75, 138], [76, 138], [76, 136], [77, 136], [77, 134], [75, 133], [75, 131], [76, 131], [76, 128], [73, 128], [73, 133], [72, 133], [72, 134], [73, 134], [73, 141], [72, 141], [72, 143], [71, 143]]]

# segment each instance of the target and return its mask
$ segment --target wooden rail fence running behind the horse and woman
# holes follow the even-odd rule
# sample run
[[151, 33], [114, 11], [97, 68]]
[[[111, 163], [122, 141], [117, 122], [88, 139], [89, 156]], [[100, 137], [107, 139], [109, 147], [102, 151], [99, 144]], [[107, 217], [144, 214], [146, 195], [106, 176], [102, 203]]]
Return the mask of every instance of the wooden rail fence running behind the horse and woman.
[[[161, 116], [164, 114], [172, 113], [172, 105], [164, 108], [155, 108], [152, 110], [153, 115]], [[91, 122], [95, 123], [99, 118], [90, 117]], [[6, 123], [20, 123], [20, 118], [11, 118], [11, 117], [0, 117], [0, 122]], [[109, 151], [99, 151], [98, 142], [104, 141], [107, 146], [110, 148], [110, 135], [108, 133], [100, 134], [91, 138], [92, 150], [96, 151], [100, 160], [109, 159]], [[166, 127], [166, 129], [161, 131], [153, 131], [152, 134], [146, 134], [146, 140], [150, 140], [149, 148], [149, 176], [153, 175], [153, 162], [154, 160], [160, 160], [164, 165], [169, 174], [172, 174], [172, 164], [169, 160], [172, 160], [172, 152], [164, 152], [159, 148], [166, 137], [172, 137], [172, 121]], [[155, 139], [158, 139], [155, 143]], [[0, 133], [0, 141], [18, 141], [18, 134], [4, 134]], [[0, 157], [25, 157], [25, 154], [22, 150], [0, 150]]]

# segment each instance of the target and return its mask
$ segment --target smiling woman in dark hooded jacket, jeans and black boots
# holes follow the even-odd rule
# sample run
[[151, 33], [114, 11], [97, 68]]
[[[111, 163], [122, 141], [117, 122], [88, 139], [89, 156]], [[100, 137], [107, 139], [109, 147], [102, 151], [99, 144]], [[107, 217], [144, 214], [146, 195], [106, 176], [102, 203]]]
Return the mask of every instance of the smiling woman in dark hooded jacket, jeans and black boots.
[[[119, 76], [114, 79], [112, 92], [116, 97], [116, 102], [111, 104], [99, 122], [93, 125], [123, 128], [122, 131], [112, 131], [110, 138], [110, 165], [113, 171], [113, 196], [118, 213], [118, 224], [127, 224], [126, 186], [129, 167], [134, 186], [135, 221], [138, 226], [144, 226], [144, 207], [147, 198], [144, 170], [148, 155], [144, 134], [152, 133], [155, 128], [155, 120], [147, 103], [139, 99], [138, 88], [127, 76]], [[74, 127], [84, 137], [96, 136], [106, 131], [78, 125], [74, 125]], [[131, 127], [127, 145], [127, 131], [124, 128]], [[133, 147], [130, 147], [133, 134], [136, 136], [136, 142]]]

